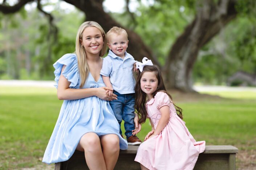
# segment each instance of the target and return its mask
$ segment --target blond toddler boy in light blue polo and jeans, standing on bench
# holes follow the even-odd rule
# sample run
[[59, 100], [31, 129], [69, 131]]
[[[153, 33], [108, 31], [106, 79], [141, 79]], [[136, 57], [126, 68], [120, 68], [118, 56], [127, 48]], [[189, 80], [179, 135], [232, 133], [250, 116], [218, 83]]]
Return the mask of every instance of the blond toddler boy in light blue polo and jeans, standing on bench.
[[[124, 29], [114, 26], [107, 32], [106, 38], [109, 54], [103, 59], [101, 75], [105, 85], [114, 89], [113, 93], [118, 98], [109, 103], [119, 123], [121, 136], [121, 122], [124, 120], [128, 145], [139, 145], [141, 140], [132, 134], [132, 130], [135, 129], [133, 67], [136, 61], [126, 52], [129, 42], [128, 35]], [[109, 95], [111, 93], [110, 91]]]

